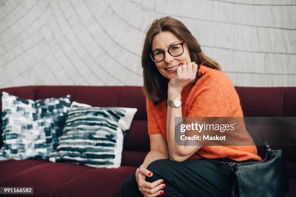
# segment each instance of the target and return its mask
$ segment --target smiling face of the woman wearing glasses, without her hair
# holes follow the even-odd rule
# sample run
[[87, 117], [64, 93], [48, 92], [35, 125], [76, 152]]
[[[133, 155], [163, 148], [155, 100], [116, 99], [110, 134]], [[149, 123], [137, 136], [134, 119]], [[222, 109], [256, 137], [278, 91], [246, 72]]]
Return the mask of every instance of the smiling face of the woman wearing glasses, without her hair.
[[[189, 49], [186, 43], [183, 45], [184, 52], [181, 56], [174, 57], [168, 53], [168, 48], [174, 44], [182, 43], [172, 32], [163, 31], [154, 36], [152, 40], [152, 51], [163, 50], [164, 59], [161, 62], [155, 62], [159, 72], [167, 79], [171, 80], [177, 74], [178, 66], [191, 62]], [[167, 70], [169, 69], [169, 70]]]

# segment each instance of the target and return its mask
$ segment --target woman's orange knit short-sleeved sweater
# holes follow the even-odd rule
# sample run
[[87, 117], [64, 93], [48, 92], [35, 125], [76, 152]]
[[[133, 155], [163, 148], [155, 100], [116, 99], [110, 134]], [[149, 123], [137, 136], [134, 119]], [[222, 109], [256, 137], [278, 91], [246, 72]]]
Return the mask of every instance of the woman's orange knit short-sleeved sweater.
[[[200, 66], [202, 77], [181, 92], [183, 117], [243, 117], [237, 92], [230, 79], [221, 71]], [[166, 102], [154, 105], [147, 99], [148, 133], [166, 138]], [[228, 157], [237, 161], [261, 160], [256, 146], [202, 146], [198, 154], [206, 158]], [[189, 159], [200, 159], [193, 154]]]

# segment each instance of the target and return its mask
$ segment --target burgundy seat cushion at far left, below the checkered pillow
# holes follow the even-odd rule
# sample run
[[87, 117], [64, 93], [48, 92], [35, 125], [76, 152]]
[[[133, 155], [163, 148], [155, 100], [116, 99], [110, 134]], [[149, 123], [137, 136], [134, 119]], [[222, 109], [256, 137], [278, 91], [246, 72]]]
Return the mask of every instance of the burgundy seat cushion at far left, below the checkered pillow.
[[[51, 163], [48, 161], [41, 163], [40, 160], [35, 161], [36, 163], [33, 163], [32, 160], [1, 161], [1, 179], [2, 170], [5, 171], [8, 168], [11, 170], [11, 176], [2, 181], [0, 186], [32, 186], [34, 187], [34, 196], [52, 197], [60, 185], [92, 169], [87, 166], [68, 163]], [[24, 163], [27, 162], [27, 168], [23, 167], [24, 170], [18, 170], [18, 173], [14, 172], [20, 166], [26, 166]]]

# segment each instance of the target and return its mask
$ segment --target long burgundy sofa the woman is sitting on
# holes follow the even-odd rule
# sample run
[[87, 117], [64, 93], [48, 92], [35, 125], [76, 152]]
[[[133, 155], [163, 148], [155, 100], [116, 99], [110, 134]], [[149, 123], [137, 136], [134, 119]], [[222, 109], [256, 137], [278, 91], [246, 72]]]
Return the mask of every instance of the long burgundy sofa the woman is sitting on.
[[[245, 116], [296, 116], [296, 87], [236, 89]], [[0, 89], [1, 91], [26, 99], [62, 97], [70, 94], [73, 101], [101, 107], [133, 107], [138, 111], [124, 140], [120, 168], [96, 169], [69, 163], [51, 163], [41, 159], [0, 161], [0, 186], [33, 186], [34, 196], [38, 197], [120, 197], [122, 182], [142, 164], [149, 151], [146, 102], [142, 87], [26, 86]], [[290, 181], [290, 190], [286, 197], [295, 197], [296, 147], [282, 149]]]

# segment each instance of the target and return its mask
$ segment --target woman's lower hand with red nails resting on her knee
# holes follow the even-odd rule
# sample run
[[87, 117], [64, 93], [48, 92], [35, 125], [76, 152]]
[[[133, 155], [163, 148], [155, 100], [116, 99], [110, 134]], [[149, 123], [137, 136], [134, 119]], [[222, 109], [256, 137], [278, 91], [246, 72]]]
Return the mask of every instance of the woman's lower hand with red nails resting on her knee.
[[145, 181], [146, 176], [151, 177], [153, 173], [148, 169], [140, 167], [136, 170], [135, 178], [138, 183], [139, 191], [146, 197], [156, 197], [163, 194], [163, 189], [165, 184], [162, 179], [159, 179], [155, 182], [149, 183]]

